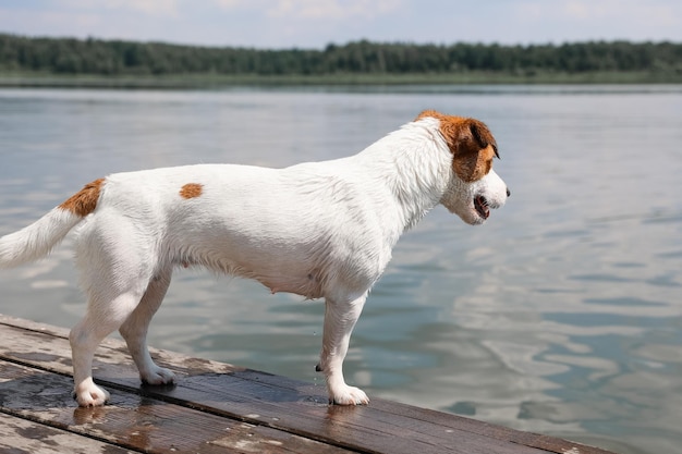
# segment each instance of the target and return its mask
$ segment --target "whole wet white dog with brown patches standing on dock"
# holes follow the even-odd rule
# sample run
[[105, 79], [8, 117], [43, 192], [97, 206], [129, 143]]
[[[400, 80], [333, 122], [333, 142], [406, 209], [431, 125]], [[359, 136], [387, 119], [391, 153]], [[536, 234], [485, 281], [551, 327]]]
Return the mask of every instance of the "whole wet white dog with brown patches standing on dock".
[[[46, 256], [80, 224], [76, 262], [88, 297], [70, 334], [75, 397], [102, 405], [98, 344], [120, 330], [143, 381], [171, 383], [146, 345], [176, 266], [252, 278], [326, 302], [318, 371], [330, 403], [367, 404], [342, 372], [351, 332], [400, 235], [438, 204], [470, 224], [504, 205], [497, 145], [474, 119], [422, 112], [348, 158], [285, 169], [202, 164], [96, 180], [34, 224], [0, 238], [0, 267]], [[499, 156], [498, 156], [499, 157]]]

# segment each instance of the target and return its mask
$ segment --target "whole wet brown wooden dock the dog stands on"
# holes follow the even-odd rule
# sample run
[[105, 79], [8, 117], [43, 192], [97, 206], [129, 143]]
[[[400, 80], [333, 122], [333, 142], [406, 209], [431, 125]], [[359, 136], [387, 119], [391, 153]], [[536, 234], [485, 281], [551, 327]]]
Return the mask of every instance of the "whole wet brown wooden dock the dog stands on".
[[68, 330], [0, 315], [0, 452], [610, 454], [376, 397], [330, 406], [324, 385], [153, 355], [176, 385], [142, 385], [124, 343], [106, 341], [95, 380], [111, 402], [78, 408]]

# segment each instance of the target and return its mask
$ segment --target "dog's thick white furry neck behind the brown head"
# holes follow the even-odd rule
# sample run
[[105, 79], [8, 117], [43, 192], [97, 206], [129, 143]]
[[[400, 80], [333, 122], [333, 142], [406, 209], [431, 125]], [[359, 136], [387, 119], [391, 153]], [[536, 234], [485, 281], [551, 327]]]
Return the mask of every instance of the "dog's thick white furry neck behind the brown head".
[[376, 169], [373, 174], [381, 175], [393, 194], [401, 233], [438, 205], [451, 179], [452, 158], [448, 146], [438, 131], [424, 122], [404, 125], [367, 147], [358, 157], [367, 170]]

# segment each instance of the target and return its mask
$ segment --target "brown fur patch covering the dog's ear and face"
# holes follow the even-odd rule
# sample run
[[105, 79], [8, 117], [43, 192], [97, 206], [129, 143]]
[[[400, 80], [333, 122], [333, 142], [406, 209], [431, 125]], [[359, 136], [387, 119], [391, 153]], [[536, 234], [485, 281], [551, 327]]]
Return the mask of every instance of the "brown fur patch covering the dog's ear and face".
[[440, 122], [439, 131], [452, 152], [452, 169], [466, 183], [483, 179], [492, 169], [492, 158], [498, 157], [497, 143], [485, 123], [463, 116], [444, 115], [425, 110], [415, 121], [434, 118]]

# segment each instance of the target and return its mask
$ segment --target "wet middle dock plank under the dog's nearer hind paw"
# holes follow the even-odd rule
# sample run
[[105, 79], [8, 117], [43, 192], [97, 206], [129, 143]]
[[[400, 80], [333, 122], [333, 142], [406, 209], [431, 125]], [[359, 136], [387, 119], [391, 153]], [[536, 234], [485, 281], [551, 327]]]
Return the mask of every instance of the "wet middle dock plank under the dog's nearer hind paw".
[[[20, 426], [23, 425], [21, 420], [33, 421], [33, 434], [42, 433], [41, 428], [60, 430], [71, 432], [69, 440], [87, 437], [87, 440], [98, 440], [100, 447], [109, 443], [121, 452], [212, 454], [232, 449], [253, 453], [348, 453], [289, 432], [119, 390], [111, 390], [109, 405], [80, 408], [71, 397], [72, 385], [69, 377], [0, 360], [1, 412], [5, 417], [15, 417], [14, 421]], [[32, 434], [28, 431], [22, 433]], [[12, 441], [13, 447], [25, 443], [14, 444]]]

